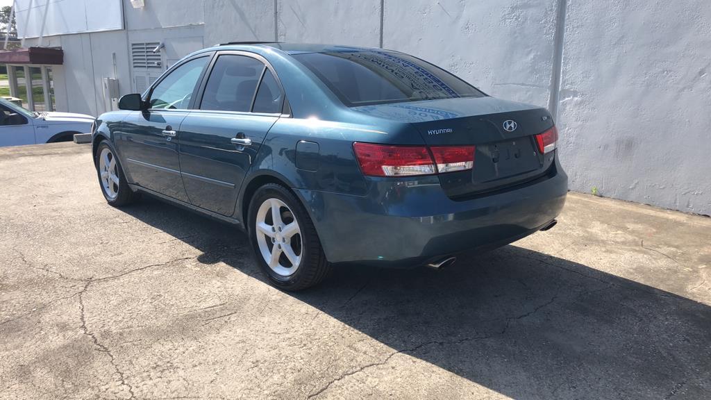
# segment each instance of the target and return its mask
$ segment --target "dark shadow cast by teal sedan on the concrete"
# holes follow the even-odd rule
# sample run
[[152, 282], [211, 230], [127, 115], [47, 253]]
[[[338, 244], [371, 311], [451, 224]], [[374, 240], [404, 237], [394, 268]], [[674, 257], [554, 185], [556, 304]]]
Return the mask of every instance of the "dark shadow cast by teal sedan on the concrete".
[[[266, 284], [236, 229], [152, 199], [124, 211]], [[373, 367], [406, 354], [515, 399], [711, 390], [711, 307], [515, 245], [446, 270], [342, 266], [291, 295], [390, 347]]]

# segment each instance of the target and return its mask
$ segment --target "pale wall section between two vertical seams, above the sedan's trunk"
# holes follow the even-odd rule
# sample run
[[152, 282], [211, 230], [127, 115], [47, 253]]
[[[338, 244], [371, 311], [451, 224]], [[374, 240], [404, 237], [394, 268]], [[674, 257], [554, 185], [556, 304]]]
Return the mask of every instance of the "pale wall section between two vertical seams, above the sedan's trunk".
[[489, 95], [546, 107], [555, 4], [385, 1], [383, 47], [440, 65]]

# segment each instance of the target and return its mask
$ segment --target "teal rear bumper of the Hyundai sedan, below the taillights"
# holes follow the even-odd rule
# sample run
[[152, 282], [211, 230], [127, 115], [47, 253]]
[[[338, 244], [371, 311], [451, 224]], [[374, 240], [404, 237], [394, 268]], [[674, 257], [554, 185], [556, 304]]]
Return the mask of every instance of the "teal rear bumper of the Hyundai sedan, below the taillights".
[[567, 176], [555, 164], [542, 179], [454, 201], [437, 177], [377, 179], [367, 196], [296, 189], [332, 263], [407, 268], [528, 236], [560, 214]]

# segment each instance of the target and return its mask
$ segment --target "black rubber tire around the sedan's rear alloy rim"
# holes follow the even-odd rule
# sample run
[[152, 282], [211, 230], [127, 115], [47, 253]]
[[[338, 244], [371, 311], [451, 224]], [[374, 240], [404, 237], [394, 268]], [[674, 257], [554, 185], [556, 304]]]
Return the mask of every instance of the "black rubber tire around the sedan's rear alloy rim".
[[[292, 211], [293, 215], [291, 217], [298, 223], [301, 231], [299, 235], [299, 240], [301, 241], [299, 265], [296, 271], [289, 276], [279, 275], [272, 270], [272, 268], [269, 268], [269, 264], [264, 260], [264, 256], [262, 256], [262, 252], [260, 251], [260, 245], [257, 242], [257, 235], [262, 234], [257, 231], [257, 213], [260, 206], [268, 199], [278, 199], [284, 202], [288, 209]], [[284, 210], [285, 212], [289, 211]], [[289, 216], [287, 216], [287, 218], [289, 218]], [[330, 265], [328, 260], [326, 260], [324, 249], [321, 247], [319, 235], [316, 233], [314, 223], [311, 221], [301, 201], [299, 201], [289, 189], [273, 183], [265, 184], [257, 189], [250, 201], [247, 221], [252, 250], [255, 253], [255, 258], [257, 258], [257, 263], [259, 263], [260, 268], [262, 268], [262, 272], [264, 272], [264, 275], [269, 279], [269, 283], [272, 283], [272, 285], [279, 289], [293, 292], [310, 288], [311, 286], [321, 283], [321, 281], [326, 278], [330, 270]]]

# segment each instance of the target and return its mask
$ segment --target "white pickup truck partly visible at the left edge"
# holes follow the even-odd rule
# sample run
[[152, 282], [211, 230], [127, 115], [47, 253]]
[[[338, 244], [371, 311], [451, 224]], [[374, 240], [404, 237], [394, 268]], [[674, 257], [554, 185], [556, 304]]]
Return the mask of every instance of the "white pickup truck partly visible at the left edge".
[[32, 112], [0, 98], [0, 147], [68, 142], [91, 132], [95, 118], [71, 112]]

